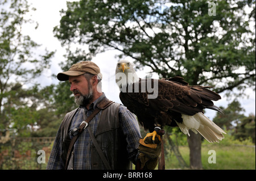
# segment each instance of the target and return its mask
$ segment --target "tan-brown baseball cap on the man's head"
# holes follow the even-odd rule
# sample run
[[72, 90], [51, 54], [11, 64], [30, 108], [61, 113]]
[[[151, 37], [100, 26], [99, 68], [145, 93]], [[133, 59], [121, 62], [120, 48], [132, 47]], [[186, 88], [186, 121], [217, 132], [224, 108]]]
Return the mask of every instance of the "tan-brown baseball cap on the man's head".
[[68, 71], [57, 74], [57, 79], [59, 81], [68, 81], [69, 76], [79, 76], [85, 73], [98, 75], [98, 78], [102, 79], [100, 68], [91, 61], [82, 61], [73, 64]]

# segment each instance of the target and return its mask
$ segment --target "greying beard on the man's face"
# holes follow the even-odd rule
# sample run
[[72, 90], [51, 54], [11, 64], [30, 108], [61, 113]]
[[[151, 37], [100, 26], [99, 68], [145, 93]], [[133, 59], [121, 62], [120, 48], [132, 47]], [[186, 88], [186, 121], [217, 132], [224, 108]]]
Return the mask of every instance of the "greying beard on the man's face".
[[81, 94], [80, 91], [78, 90], [75, 90], [73, 91], [74, 93], [79, 93], [80, 95], [79, 96], [75, 96], [75, 103], [80, 105], [80, 106], [87, 106], [93, 99], [93, 90], [92, 90], [92, 86], [89, 85], [88, 83], [88, 94], [86, 95], [83, 95]]

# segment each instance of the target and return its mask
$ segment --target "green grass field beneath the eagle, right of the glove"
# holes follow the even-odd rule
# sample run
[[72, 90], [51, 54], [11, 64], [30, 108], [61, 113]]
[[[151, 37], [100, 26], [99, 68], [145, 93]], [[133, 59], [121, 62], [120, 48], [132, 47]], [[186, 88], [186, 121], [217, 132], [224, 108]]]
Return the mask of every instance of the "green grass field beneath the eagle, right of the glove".
[[[180, 146], [179, 150], [189, 166], [188, 146]], [[202, 145], [201, 158], [205, 170], [255, 170], [255, 147], [253, 146]], [[208, 159], [213, 163], [209, 163]], [[180, 169], [179, 162], [173, 153], [166, 155], [166, 169]]]

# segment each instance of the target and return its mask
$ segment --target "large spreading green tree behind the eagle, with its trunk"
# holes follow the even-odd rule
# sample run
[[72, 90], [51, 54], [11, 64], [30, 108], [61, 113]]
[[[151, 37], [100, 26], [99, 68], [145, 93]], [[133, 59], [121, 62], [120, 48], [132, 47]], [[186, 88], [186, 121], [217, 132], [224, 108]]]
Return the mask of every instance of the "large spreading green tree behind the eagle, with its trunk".
[[[63, 45], [89, 45], [77, 50], [88, 60], [115, 49], [138, 68], [218, 93], [255, 86], [255, 1], [81, 0], [61, 14], [55, 36]], [[188, 143], [190, 166], [201, 169], [201, 137], [191, 133]]]

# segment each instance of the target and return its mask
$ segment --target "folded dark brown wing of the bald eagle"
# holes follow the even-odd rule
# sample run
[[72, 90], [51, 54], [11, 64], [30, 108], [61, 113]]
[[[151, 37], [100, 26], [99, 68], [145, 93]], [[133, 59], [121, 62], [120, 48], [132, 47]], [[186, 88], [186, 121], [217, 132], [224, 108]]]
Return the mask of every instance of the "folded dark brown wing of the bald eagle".
[[[154, 87], [154, 91], [158, 91], [155, 99], [148, 99], [148, 95], [154, 92], [148, 92], [147, 89], [145, 92], [141, 89], [142, 86], [147, 87], [148, 81], [151, 81], [151, 86], [154, 85], [153, 81], [158, 81], [158, 87]], [[139, 87], [139, 92], [134, 92], [135, 87]], [[159, 111], [171, 110], [185, 115], [195, 115], [197, 112], [203, 112], [205, 108], [221, 111], [212, 102], [212, 100], [221, 99], [221, 96], [207, 88], [209, 87], [189, 86], [181, 77], [159, 80], [140, 79], [139, 82], [134, 83], [133, 92], [127, 90], [120, 99], [125, 106], [129, 105], [129, 107], [135, 107], [134, 104], [138, 104]]]

